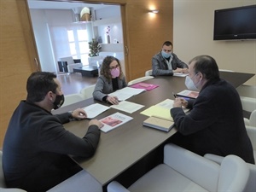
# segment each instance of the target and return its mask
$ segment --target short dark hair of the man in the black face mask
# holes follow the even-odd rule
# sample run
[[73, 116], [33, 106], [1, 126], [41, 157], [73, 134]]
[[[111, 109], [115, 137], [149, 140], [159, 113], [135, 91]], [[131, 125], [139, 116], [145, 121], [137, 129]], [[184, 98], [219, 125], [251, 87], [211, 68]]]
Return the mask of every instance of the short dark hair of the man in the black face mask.
[[49, 72], [34, 72], [26, 81], [26, 101], [41, 102], [49, 91], [56, 92], [56, 75]]

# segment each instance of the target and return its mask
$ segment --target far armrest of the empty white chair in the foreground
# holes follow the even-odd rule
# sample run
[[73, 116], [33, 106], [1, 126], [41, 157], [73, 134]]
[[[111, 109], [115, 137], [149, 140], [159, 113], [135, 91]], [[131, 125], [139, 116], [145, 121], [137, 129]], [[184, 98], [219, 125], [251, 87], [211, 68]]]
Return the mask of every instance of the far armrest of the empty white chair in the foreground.
[[[164, 149], [164, 163], [205, 189], [217, 191], [216, 183], [218, 183], [220, 166], [212, 160], [168, 143]], [[199, 170], [198, 167], [201, 169]]]

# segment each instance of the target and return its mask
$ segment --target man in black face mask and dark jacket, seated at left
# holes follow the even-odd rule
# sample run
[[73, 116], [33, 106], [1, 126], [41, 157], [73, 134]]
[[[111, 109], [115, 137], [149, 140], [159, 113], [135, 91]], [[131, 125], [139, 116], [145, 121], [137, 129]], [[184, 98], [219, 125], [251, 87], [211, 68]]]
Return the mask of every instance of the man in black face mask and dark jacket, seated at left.
[[50, 113], [64, 102], [61, 84], [53, 73], [32, 73], [26, 90], [26, 101], [15, 109], [4, 138], [3, 172], [9, 188], [46, 191], [81, 171], [67, 154], [92, 156], [102, 123], [90, 120], [83, 138], [65, 130], [62, 124], [85, 119], [86, 113], [81, 108], [72, 113]]

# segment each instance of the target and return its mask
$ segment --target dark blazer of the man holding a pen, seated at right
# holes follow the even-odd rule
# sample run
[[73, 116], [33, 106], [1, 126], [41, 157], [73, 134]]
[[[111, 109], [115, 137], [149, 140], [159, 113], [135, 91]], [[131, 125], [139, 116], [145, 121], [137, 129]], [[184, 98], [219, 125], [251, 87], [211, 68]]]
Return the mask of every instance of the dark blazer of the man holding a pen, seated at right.
[[207, 82], [189, 114], [172, 108], [177, 134], [171, 140], [196, 154], [236, 154], [254, 163], [252, 143], [244, 125], [241, 100], [236, 89], [223, 79]]

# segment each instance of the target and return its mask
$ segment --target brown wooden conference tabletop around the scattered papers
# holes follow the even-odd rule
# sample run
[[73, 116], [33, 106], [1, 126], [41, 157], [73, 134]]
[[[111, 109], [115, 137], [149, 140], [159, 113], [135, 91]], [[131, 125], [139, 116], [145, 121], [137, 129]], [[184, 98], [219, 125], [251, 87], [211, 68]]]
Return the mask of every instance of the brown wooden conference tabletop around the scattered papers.
[[[235, 87], [245, 83], [248, 79], [252, 78], [254, 74], [251, 73], [230, 73], [220, 72], [222, 79], [228, 80]], [[185, 78], [180, 77], [155, 77], [145, 81], [149, 84], [158, 84], [158, 88], [150, 91], [145, 91], [137, 96], [132, 96], [127, 101], [136, 102], [144, 105], [135, 113], [125, 113], [134, 119], [125, 125], [121, 125], [113, 131], [108, 133], [102, 132], [101, 140], [96, 149], [96, 154], [90, 159], [83, 159], [73, 157], [75, 161], [96, 178], [102, 186], [106, 186], [110, 181], [125, 172], [131, 166], [136, 164], [143, 157], [154, 151], [162, 143], [165, 143], [175, 132], [172, 129], [169, 132], [158, 131], [143, 126], [143, 120], [148, 116], [141, 114], [143, 110], [149, 108], [159, 102], [169, 99], [174, 99], [172, 92], [179, 92], [186, 89], [184, 84]], [[84, 108], [95, 101], [93, 98], [77, 102], [72, 105], [59, 108], [54, 113], [63, 113], [76, 108]], [[101, 102], [102, 103], [102, 102]], [[107, 103], [102, 103], [108, 105]], [[110, 108], [106, 112], [100, 114], [96, 119], [102, 119], [109, 114], [117, 112], [116, 109]], [[89, 120], [73, 121], [65, 124], [68, 131], [73, 132], [78, 137], [84, 137], [87, 131]]]

